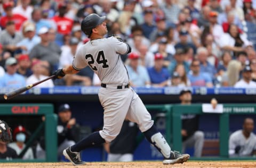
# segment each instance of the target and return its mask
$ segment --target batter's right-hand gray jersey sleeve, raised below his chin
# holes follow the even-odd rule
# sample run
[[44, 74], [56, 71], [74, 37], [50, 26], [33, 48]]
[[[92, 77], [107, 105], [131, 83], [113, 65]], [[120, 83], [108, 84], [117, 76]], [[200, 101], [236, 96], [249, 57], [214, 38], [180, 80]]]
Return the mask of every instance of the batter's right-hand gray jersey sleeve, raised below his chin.
[[111, 47], [115, 48], [115, 51], [119, 54], [127, 54], [129, 52], [129, 46], [123, 41], [119, 41], [115, 37], [109, 37], [111, 40]]

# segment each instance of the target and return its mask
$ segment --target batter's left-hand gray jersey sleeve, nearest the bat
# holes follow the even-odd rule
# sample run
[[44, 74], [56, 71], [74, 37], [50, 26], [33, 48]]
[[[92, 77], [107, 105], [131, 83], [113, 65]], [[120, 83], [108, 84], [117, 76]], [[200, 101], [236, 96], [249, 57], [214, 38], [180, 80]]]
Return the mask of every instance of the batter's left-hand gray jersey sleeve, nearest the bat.
[[72, 62], [72, 66], [77, 71], [81, 71], [83, 68], [87, 66], [83, 56], [83, 47], [80, 47], [76, 52], [76, 55]]

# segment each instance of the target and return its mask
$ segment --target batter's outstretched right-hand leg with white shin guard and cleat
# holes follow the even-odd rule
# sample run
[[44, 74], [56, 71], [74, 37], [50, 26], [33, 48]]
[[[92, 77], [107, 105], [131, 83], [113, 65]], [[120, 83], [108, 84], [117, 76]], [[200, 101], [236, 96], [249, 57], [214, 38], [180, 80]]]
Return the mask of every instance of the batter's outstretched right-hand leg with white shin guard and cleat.
[[156, 129], [151, 115], [136, 93], [134, 93], [126, 118], [139, 125], [139, 129], [144, 133], [147, 140], [164, 156], [164, 164], [183, 163], [189, 159], [188, 154], [181, 155], [171, 150], [162, 133]]

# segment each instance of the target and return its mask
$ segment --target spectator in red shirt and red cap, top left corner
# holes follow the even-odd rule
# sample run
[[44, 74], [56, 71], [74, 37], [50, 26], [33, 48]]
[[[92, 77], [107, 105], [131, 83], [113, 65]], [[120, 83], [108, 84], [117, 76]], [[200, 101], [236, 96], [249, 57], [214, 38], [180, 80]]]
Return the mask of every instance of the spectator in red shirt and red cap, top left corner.
[[19, 13], [13, 14], [13, 12], [12, 12], [13, 2], [4, 3], [3, 8], [4, 8], [6, 15], [2, 16], [0, 19], [1, 28], [5, 29], [6, 23], [8, 21], [13, 21], [15, 23], [15, 30], [20, 31], [22, 23], [25, 22], [27, 20], [27, 18], [20, 15]]

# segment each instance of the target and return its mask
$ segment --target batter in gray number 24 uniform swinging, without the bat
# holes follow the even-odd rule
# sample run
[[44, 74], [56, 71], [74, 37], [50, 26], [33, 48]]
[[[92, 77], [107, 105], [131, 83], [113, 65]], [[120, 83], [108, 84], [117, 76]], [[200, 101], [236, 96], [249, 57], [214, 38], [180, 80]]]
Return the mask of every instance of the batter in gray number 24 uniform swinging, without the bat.
[[115, 139], [127, 119], [137, 123], [147, 140], [163, 154], [163, 164], [188, 161], [188, 154], [182, 155], [171, 150], [154, 126], [145, 105], [130, 87], [129, 75], [120, 54], [130, 53], [131, 47], [121, 38], [104, 38], [107, 33], [105, 18], [97, 14], [86, 16], [81, 23], [81, 29], [90, 41], [78, 49], [72, 65], [54, 72], [55, 79], [59, 79], [65, 74], [75, 74], [89, 65], [101, 81], [98, 96], [104, 109], [103, 129], [63, 150], [63, 155], [74, 165], [85, 164], [81, 161], [79, 152]]

